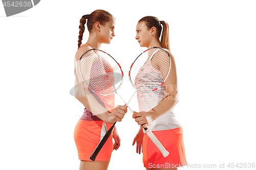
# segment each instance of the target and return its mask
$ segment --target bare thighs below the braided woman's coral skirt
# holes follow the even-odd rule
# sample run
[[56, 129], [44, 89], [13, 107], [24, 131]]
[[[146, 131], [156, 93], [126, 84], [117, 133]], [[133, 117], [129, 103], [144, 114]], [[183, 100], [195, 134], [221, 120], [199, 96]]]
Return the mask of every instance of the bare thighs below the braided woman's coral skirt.
[[107, 170], [110, 161], [81, 161], [79, 170]]

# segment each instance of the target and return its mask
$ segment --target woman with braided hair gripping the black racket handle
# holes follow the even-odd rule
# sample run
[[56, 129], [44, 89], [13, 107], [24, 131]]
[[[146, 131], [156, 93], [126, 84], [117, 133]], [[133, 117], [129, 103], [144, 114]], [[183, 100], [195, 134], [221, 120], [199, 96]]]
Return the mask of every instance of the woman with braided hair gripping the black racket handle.
[[[81, 45], [85, 24], [89, 31], [86, 44]], [[74, 131], [74, 139], [80, 161], [79, 170], [104, 170], [108, 169], [113, 150], [120, 147], [120, 138], [114, 127], [112, 137], [106, 141], [95, 161], [89, 159], [97, 147], [104, 133], [115, 122], [121, 122], [127, 112], [126, 106], [115, 107], [114, 94], [99, 96], [93, 94], [83, 82], [79, 71], [79, 59], [92, 48], [100, 48], [102, 43], [109, 44], [115, 36], [115, 18], [104, 10], [93, 11], [90, 15], [83, 15], [80, 19], [78, 50], [75, 55], [75, 97], [84, 107], [83, 115], [78, 120]]]

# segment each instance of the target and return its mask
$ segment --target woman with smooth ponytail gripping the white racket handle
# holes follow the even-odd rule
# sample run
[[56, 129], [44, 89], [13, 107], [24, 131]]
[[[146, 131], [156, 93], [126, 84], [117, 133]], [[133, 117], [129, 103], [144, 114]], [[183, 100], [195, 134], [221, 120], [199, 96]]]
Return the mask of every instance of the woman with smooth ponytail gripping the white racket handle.
[[[163, 29], [162, 29], [163, 28]], [[161, 34], [162, 32], [162, 34]], [[154, 16], [141, 18], [136, 27], [136, 37], [141, 47], [161, 47], [171, 58], [171, 69], [164, 84], [154, 92], [144, 93], [137, 91], [139, 108], [148, 108], [149, 111], [140, 111], [133, 114], [133, 118], [141, 125], [135, 136], [133, 145], [137, 143], [137, 153], [143, 152], [143, 163], [146, 169], [177, 169], [186, 165], [183, 144], [183, 130], [173, 113], [174, 106], [179, 102], [179, 92], [174, 56], [170, 53], [169, 26], [165, 21], [159, 21]], [[161, 40], [160, 40], [161, 36]], [[150, 108], [150, 105], [155, 105]], [[154, 143], [143, 133], [143, 128], [150, 128], [163, 147], [169, 152], [163, 157]]]

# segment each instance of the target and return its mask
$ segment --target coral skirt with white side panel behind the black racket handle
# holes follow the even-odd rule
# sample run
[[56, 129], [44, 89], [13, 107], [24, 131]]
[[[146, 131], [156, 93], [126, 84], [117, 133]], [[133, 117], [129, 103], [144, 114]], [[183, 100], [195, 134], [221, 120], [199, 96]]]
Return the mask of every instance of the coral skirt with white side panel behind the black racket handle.
[[[82, 120], [79, 119], [74, 130], [74, 139], [78, 151], [78, 158], [83, 161], [92, 161], [89, 157], [94, 152], [106, 130], [110, 129], [111, 124], [104, 123], [102, 120]], [[113, 151], [112, 134], [100, 150], [95, 161], [109, 161]]]

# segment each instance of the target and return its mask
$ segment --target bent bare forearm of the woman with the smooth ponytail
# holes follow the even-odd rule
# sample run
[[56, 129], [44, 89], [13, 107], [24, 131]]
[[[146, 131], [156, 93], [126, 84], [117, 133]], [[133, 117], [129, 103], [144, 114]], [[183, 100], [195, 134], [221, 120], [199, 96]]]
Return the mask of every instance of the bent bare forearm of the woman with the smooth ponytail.
[[148, 111], [148, 113], [152, 114], [152, 120], [154, 121], [161, 115], [173, 109], [178, 102], [179, 102], [178, 92], [166, 94], [164, 98], [161, 100], [161, 102], [152, 110]]

